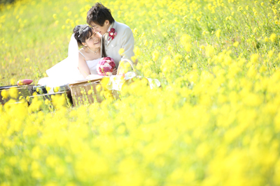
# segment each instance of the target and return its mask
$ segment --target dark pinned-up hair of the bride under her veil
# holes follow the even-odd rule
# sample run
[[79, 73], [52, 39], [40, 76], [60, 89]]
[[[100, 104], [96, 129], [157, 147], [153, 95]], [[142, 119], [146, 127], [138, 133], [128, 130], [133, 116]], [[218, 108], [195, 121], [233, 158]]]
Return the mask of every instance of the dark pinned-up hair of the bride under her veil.
[[94, 31], [92, 30], [92, 27], [85, 24], [79, 24], [73, 29], [73, 34], [79, 47], [83, 47], [82, 42], [85, 42], [85, 40], [90, 38], [93, 33]]

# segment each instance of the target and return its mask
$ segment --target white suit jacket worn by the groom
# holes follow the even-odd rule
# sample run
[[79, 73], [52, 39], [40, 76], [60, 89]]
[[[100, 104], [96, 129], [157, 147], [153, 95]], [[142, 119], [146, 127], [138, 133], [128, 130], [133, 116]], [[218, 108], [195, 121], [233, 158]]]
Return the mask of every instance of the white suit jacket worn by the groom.
[[[134, 38], [132, 30], [126, 24], [115, 21], [113, 22], [113, 26], [110, 27], [115, 29], [117, 36], [113, 40], [105, 41], [106, 54], [113, 58], [116, 63], [116, 68], [118, 68], [118, 64], [122, 59], [131, 60], [131, 57], [134, 56]], [[121, 48], [125, 49], [124, 56], [120, 56], [118, 53]]]

